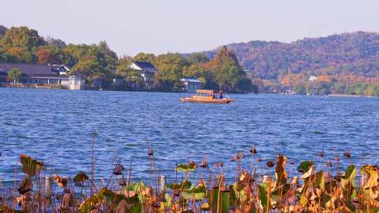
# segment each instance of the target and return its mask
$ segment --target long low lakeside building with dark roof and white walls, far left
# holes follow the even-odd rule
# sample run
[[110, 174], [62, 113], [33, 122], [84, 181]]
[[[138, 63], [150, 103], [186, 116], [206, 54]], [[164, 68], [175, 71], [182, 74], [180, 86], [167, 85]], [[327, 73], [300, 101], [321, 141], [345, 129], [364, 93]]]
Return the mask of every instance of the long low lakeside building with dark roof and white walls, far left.
[[65, 65], [44, 65], [27, 63], [0, 62], [0, 84], [13, 85], [8, 79], [8, 71], [20, 69], [22, 76], [19, 83], [27, 87], [65, 88], [68, 90], [84, 89], [84, 78], [79, 74], [66, 76], [70, 70]]

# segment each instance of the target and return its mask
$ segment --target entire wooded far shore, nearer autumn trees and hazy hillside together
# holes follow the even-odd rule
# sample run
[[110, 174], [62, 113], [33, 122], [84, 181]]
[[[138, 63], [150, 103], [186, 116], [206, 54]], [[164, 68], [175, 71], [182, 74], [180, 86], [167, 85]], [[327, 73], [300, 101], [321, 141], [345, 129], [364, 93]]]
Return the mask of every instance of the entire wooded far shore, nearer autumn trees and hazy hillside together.
[[[203, 89], [227, 92], [291, 90], [300, 95], [379, 96], [379, 63], [375, 60], [378, 50], [371, 45], [377, 40], [377, 34], [356, 33], [305, 39], [291, 46], [252, 41], [202, 53], [138, 53], [134, 57], [119, 57], [105, 41], [92, 45], [66, 44], [60, 39], [45, 39], [27, 27], [0, 26], [0, 63], [64, 64], [71, 68], [65, 75], [80, 74], [88, 88], [114, 89], [114, 79], [121, 78], [124, 79], [123, 86], [118, 87], [121, 90], [183, 91], [182, 79], [191, 78], [201, 82]], [[326, 51], [323, 42], [331, 47], [333, 43], [340, 43], [335, 46], [340, 55], [333, 53], [338, 58], [333, 55], [325, 58], [327, 54], [321, 54]], [[357, 43], [363, 47], [355, 51]], [[316, 46], [321, 53], [308, 46]], [[285, 55], [281, 48], [291, 51]], [[354, 52], [350, 53], [350, 49]], [[293, 55], [294, 51], [302, 55]], [[345, 67], [338, 67], [336, 64], [344, 60], [341, 54], [345, 53], [359, 60], [350, 59], [351, 66], [344, 62]], [[310, 55], [310, 59], [304, 54]], [[277, 58], [281, 65], [272, 58]], [[147, 83], [140, 70], [131, 67], [132, 62], [148, 62], [157, 68], [151, 83]], [[357, 63], [360, 65], [356, 66]], [[17, 80], [19, 72], [13, 71], [7, 76], [8, 80]]]

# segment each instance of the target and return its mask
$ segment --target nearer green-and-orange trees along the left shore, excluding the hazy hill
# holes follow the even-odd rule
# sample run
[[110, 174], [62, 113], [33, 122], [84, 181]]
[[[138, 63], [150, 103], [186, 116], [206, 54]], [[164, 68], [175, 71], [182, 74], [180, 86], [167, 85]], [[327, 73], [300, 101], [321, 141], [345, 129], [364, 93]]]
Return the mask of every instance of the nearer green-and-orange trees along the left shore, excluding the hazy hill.
[[[0, 62], [65, 64], [72, 68], [67, 76], [80, 74], [88, 85], [101, 79], [102, 88], [107, 89], [114, 78], [121, 77], [134, 88], [149, 90], [152, 87], [145, 85], [146, 79], [141, 71], [130, 66], [131, 62], [148, 62], [157, 68], [152, 78], [154, 90], [181, 91], [183, 83], [180, 80], [187, 77], [201, 81], [204, 89], [258, 92], [237, 57], [226, 47], [212, 60], [202, 53], [187, 57], [179, 53], [138, 53], [135, 57], [118, 57], [105, 41], [98, 45], [67, 45], [59, 39], [44, 39], [36, 30], [27, 27], [3, 27], [2, 32], [0, 30]], [[11, 80], [14, 80], [12, 76], [19, 75], [16, 71], [9, 74]]]

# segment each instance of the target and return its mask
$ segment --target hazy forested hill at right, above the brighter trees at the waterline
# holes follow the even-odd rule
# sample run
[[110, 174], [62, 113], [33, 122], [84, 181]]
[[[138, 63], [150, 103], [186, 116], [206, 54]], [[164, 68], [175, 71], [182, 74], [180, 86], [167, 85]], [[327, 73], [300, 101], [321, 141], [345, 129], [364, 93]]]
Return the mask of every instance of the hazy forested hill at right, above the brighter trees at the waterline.
[[[335, 34], [292, 43], [250, 41], [231, 43], [240, 64], [255, 78], [281, 79], [286, 74], [335, 75], [352, 72], [368, 78], [379, 76], [379, 34]], [[204, 52], [213, 57], [217, 50]], [[280, 81], [280, 80], [279, 80]]]

